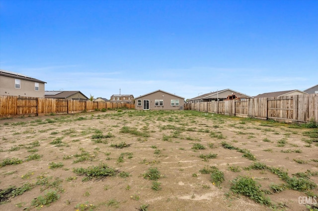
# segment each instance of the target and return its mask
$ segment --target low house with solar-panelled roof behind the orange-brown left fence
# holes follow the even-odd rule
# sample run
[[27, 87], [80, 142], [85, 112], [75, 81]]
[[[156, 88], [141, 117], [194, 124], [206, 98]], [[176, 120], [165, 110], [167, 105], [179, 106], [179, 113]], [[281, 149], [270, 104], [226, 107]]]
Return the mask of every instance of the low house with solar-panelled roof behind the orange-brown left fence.
[[45, 91], [45, 98], [81, 101], [87, 101], [89, 99], [80, 91]]

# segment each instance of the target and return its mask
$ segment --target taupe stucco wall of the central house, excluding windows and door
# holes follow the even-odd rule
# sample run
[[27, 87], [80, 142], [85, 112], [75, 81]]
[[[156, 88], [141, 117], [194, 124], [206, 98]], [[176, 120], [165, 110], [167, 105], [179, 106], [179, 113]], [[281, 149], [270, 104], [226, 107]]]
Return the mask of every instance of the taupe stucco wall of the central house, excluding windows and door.
[[[138, 100], [141, 100], [142, 105], [138, 106]], [[135, 98], [136, 110], [144, 109], [144, 100], [149, 100], [149, 110], [180, 110], [183, 109], [184, 98], [179, 98], [165, 92], [155, 92], [141, 98]], [[155, 100], [163, 100], [163, 106], [156, 106]], [[171, 100], [179, 100], [179, 106], [171, 106]]]

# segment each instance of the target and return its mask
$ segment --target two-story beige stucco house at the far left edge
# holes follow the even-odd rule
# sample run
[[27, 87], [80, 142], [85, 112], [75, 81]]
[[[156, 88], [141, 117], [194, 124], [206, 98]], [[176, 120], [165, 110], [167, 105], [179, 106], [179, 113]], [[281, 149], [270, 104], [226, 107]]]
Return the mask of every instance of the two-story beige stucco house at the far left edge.
[[20, 73], [0, 70], [0, 95], [44, 98], [45, 84]]

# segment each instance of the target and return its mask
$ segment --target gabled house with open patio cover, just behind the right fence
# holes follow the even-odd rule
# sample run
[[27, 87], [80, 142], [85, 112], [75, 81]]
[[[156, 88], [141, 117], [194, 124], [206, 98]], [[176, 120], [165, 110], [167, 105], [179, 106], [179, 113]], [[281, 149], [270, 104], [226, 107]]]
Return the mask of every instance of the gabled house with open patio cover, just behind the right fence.
[[249, 98], [253, 98], [253, 97], [239, 93], [232, 89], [224, 89], [224, 90], [200, 95], [195, 98], [191, 98], [187, 102], [198, 103], [198, 102], [224, 101], [224, 100], [249, 99]]

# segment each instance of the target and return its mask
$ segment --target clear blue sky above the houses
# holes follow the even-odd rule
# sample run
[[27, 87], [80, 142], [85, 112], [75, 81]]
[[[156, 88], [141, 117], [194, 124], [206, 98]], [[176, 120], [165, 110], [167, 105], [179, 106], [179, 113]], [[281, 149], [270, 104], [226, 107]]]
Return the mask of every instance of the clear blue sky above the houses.
[[109, 99], [318, 84], [318, 0], [0, 0], [0, 69]]

